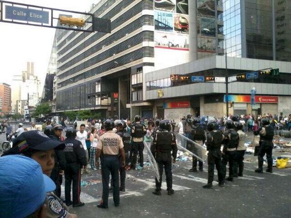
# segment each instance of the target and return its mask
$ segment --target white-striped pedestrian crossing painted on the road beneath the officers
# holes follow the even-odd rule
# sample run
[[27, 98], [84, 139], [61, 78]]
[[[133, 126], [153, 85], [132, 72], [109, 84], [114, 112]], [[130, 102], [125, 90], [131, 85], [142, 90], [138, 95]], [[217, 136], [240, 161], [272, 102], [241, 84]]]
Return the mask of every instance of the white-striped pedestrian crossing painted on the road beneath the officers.
[[[194, 187], [196, 188], [197, 186], [195, 186], [195, 183], [198, 183], [201, 185], [207, 184], [207, 164], [204, 164], [204, 170], [203, 172], [197, 172], [197, 173], [193, 173], [193, 172], [188, 172], [188, 170], [191, 168], [191, 166], [186, 165], [184, 167], [179, 166], [179, 167], [173, 167], [173, 189], [175, 191], [182, 191], [182, 190], [189, 190], [189, 189], [193, 189]], [[179, 171], [179, 169], [183, 169], [183, 171]], [[185, 171], [187, 170], [187, 171]], [[264, 171], [264, 173], [259, 174], [259, 173], [255, 173], [255, 168], [251, 167], [251, 166], [246, 166], [244, 167], [244, 171], [243, 171], [243, 177], [238, 177], [235, 178], [235, 181], [239, 181], [239, 180], [243, 180], [243, 181], [262, 181], [266, 178], [270, 178], [270, 176], [291, 176], [291, 169], [284, 169], [283, 172], [273, 172], [273, 173], [267, 173]], [[142, 172], [142, 171], [140, 171]], [[130, 171], [127, 172], [127, 180], [126, 180], [126, 192], [120, 192], [120, 197], [129, 197], [129, 196], [143, 196], [145, 194], [148, 194], [148, 190], [154, 190], [155, 188], [155, 181], [154, 178], [140, 178], [137, 177], [135, 175], [133, 175], [134, 173], [130, 173]], [[146, 173], [149, 174], [149, 173]], [[152, 173], [152, 175], [154, 175], [154, 173]], [[214, 171], [214, 175], [217, 176], [217, 171]], [[216, 177], [217, 178], [217, 177]], [[213, 186], [218, 186], [218, 182], [216, 182], [216, 178], [214, 178], [214, 181], [212, 183]], [[134, 182], [135, 184], [138, 184], [138, 188], [136, 188], [136, 185], [134, 186], [136, 190], [133, 190], [134, 188], [130, 186], [131, 182]], [[193, 185], [189, 185], [189, 183], [187, 183], [188, 185], [184, 185], [185, 183], [183, 183], [183, 181], [191, 181], [194, 182]], [[233, 183], [234, 185], [238, 185], [235, 184], [235, 182]], [[98, 186], [98, 188], [100, 188], [98, 190], [98, 192], [101, 195], [102, 192], [102, 186]], [[163, 174], [163, 182], [162, 182], [162, 189], [166, 190], [166, 182], [165, 182], [165, 175]], [[93, 197], [92, 195], [92, 189], [91, 193], [88, 193], [88, 189], [82, 187], [81, 188], [81, 202], [85, 202], [85, 203], [93, 203], [93, 202], [100, 202], [101, 200], [101, 196], [97, 196], [97, 197]], [[96, 189], [95, 189], [96, 190]], [[96, 193], [95, 193], [96, 194]], [[62, 198], [65, 198], [65, 186], [62, 185]], [[112, 195], [110, 194], [109, 199], [112, 199]]]

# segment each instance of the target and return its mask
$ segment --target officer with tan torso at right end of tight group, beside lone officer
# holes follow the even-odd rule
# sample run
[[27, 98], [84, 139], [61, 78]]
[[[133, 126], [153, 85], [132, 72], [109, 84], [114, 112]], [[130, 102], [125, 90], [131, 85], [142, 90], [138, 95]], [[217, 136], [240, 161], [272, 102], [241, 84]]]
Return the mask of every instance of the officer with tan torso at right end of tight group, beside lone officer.
[[[242, 131], [242, 124], [240, 124], [239, 122], [236, 122], [235, 123], [235, 126], [236, 126], [236, 130], [239, 134], [239, 145], [237, 147], [237, 151], [236, 151], [236, 163], [235, 164], [235, 168], [234, 171], [235, 173], [238, 172], [238, 176], [242, 176], [242, 172], [243, 172], [243, 156], [244, 156], [244, 153], [245, 153], [245, 146], [244, 146], [244, 143], [245, 143], [245, 140], [247, 138], [247, 135]], [[239, 168], [239, 169], [238, 169]]]

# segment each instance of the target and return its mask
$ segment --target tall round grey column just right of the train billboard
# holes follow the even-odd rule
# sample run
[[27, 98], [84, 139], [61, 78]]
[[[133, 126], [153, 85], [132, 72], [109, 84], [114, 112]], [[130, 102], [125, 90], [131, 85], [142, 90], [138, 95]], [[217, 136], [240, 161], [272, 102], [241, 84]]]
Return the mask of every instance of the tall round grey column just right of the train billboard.
[[189, 62], [197, 60], [197, 1], [189, 0]]

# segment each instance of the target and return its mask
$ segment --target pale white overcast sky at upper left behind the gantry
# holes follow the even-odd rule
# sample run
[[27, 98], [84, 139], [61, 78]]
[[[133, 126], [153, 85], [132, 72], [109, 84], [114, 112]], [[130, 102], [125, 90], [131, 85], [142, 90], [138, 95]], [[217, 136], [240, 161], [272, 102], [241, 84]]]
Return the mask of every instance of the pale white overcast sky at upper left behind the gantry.
[[[50, 8], [88, 12], [99, 0], [13, 0]], [[43, 81], [48, 68], [55, 29], [0, 22], [0, 83], [12, 85], [13, 75], [34, 62], [34, 73]]]

